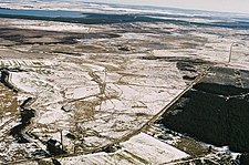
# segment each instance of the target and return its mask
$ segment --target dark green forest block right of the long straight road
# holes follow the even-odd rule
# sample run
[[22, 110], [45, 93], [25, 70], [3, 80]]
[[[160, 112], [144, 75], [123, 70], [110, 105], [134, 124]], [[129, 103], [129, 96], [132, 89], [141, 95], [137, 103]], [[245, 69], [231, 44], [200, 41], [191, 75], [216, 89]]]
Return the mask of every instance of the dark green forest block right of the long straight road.
[[249, 152], [248, 71], [214, 68], [164, 114], [176, 132], [232, 152]]

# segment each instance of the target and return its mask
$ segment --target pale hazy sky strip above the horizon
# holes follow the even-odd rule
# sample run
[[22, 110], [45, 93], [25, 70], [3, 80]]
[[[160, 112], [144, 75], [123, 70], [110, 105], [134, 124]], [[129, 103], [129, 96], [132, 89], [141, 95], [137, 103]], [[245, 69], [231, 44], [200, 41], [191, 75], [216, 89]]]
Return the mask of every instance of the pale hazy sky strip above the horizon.
[[249, 13], [249, 0], [85, 0], [85, 1]]

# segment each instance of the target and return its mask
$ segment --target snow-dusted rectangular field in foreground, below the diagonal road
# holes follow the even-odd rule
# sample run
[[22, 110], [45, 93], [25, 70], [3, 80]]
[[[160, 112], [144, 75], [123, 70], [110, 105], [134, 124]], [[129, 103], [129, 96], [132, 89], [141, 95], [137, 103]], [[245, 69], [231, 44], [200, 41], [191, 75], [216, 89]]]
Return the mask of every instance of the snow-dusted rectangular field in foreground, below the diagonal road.
[[121, 144], [118, 152], [106, 154], [97, 153], [85, 156], [75, 156], [59, 159], [62, 164], [165, 164], [172, 161], [186, 158], [189, 155], [165, 144], [145, 133], [141, 133]]

